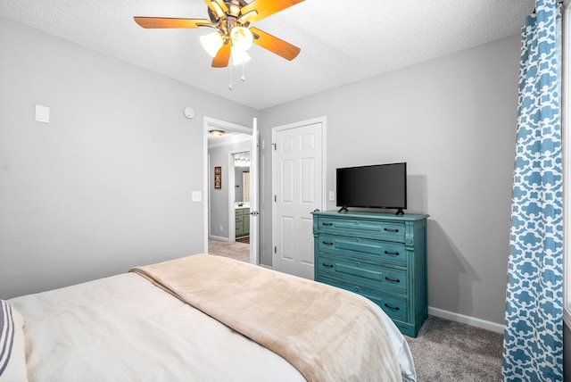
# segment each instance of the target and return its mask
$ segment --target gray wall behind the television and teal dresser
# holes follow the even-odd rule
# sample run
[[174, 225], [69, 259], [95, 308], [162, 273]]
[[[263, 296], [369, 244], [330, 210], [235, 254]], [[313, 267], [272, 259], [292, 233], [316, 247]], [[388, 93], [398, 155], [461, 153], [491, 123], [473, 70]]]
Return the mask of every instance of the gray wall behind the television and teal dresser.
[[261, 259], [271, 262], [271, 128], [325, 115], [327, 190], [337, 167], [408, 162], [407, 212], [430, 214], [429, 305], [502, 324], [518, 60], [508, 37], [263, 110]]

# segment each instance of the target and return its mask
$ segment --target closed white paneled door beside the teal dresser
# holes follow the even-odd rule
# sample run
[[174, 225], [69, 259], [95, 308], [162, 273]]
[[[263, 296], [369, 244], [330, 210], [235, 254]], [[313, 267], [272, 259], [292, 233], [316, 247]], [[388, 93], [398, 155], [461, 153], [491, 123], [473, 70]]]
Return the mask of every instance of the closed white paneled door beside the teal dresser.
[[325, 119], [272, 130], [273, 267], [313, 279], [313, 218], [324, 206]]

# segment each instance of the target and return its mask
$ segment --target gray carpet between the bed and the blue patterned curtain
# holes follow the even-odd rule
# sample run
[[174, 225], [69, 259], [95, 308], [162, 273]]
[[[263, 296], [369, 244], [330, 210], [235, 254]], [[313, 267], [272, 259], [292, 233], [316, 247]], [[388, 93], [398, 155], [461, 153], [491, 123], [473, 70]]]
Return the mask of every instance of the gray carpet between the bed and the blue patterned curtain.
[[501, 333], [428, 316], [416, 338], [405, 338], [418, 382], [501, 381]]

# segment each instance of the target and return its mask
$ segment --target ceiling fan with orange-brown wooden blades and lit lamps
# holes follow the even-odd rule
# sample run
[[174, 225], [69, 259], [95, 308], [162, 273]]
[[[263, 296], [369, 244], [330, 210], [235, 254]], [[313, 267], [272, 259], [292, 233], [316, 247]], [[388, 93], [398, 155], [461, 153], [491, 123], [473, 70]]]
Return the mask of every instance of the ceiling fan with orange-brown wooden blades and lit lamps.
[[227, 67], [230, 56], [234, 62], [249, 60], [250, 57], [245, 52], [252, 46], [252, 43], [291, 61], [300, 53], [300, 48], [254, 28], [250, 24], [302, 1], [253, 0], [248, 4], [245, 0], [204, 0], [204, 3], [208, 5], [210, 20], [141, 16], [136, 16], [134, 19], [145, 29], [202, 27], [218, 29], [211, 35], [201, 37], [204, 49], [214, 57], [212, 60], [214, 68]]

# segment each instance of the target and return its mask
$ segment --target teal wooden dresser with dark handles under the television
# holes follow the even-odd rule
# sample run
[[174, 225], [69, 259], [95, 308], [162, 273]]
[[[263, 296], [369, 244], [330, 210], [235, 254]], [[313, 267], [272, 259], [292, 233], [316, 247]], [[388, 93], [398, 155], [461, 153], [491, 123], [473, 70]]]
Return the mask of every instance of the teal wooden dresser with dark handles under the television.
[[417, 336], [428, 316], [427, 217], [313, 212], [315, 280], [368, 297]]

